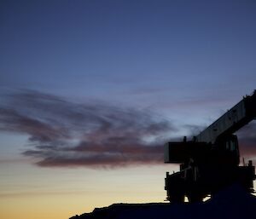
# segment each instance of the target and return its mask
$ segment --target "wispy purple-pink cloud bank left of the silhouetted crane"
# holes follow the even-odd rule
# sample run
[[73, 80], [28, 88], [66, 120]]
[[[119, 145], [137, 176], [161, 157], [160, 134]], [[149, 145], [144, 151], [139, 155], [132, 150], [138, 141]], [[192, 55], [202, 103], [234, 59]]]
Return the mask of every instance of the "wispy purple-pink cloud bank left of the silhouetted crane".
[[0, 104], [0, 130], [29, 136], [23, 154], [39, 166], [122, 167], [163, 163], [163, 142], [174, 126], [154, 113], [75, 103], [20, 90]]

